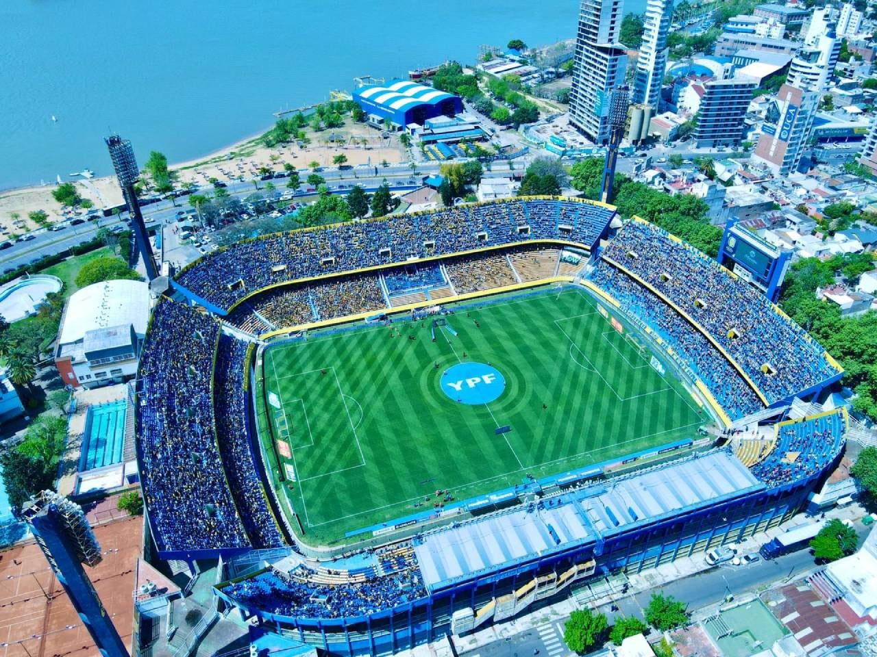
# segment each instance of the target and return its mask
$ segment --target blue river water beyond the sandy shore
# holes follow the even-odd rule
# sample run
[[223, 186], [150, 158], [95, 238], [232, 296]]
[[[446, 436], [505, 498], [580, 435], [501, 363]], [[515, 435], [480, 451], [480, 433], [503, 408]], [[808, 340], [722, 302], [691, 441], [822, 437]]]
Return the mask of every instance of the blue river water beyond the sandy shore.
[[[645, 0], [628, 0], [642, 11]], [[0, 3], [0, 189], [92, 169], [103, 137], [182, 161], [324, 101], [481, 44], [574, 37], [578, 0], [5, 0]], [[57, 121], [53, 121], [55, 117]]]

